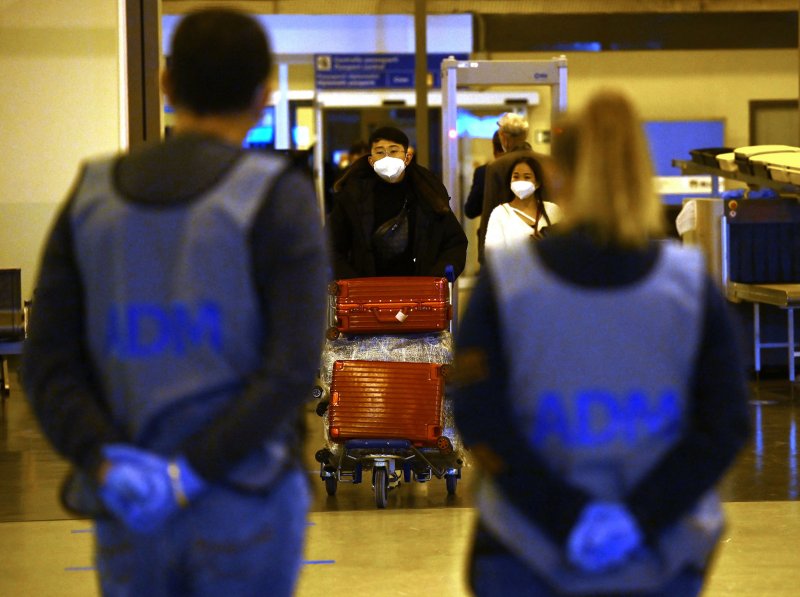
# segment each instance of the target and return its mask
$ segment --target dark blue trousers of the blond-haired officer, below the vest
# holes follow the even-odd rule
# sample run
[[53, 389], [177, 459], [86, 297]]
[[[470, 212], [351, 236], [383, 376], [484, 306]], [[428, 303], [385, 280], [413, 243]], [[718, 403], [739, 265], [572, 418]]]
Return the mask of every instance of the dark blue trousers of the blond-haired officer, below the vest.
[[[563, 595], [530, 568], [509, 554], [480, 555], [472, 561], [472, 589], [477, 597], [558, 597]], [[696, 597], [703, 588], [703, 574], [685, 570], [664, 587], [648, 593], [619, 593], [615, 597]], [[593, 597], [602, 597], [597, 594]]]

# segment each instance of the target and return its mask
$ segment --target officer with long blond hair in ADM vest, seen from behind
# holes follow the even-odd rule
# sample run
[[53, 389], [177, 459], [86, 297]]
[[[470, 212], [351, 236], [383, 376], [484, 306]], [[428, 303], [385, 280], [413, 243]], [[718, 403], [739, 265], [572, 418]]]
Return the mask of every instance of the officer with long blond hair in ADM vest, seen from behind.
[[662, 234], [629, 100], [554, 139], [564, 220], [487, 253], [457, 339], [455, 421], [483, 465], [476, 595], [689, 597], [749, 432], [735, 329], [702, 256]]

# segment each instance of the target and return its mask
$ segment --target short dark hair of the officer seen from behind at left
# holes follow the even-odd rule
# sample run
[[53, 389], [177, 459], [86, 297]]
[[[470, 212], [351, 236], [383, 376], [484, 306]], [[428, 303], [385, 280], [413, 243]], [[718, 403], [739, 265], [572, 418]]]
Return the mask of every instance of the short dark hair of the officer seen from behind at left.
[[167, 68], [178, 107], [200, 115], [240, 112], [272, 70], [269, 40], [244, 13], [200, 10], [178, 24]]

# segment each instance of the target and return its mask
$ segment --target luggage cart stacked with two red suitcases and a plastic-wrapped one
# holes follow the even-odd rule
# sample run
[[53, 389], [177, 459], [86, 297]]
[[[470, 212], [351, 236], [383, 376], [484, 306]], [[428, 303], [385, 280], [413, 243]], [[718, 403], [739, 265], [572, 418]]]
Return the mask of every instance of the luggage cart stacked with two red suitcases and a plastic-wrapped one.
[[445, 398], [452, 304], [446, 278], [377, 277], [330, 286], [331, 327], [317, 412], [328, 445], [316, 454], [328, 495], [372, 471], [375, 504], [401, 481], [444, 479], [462, 460]]

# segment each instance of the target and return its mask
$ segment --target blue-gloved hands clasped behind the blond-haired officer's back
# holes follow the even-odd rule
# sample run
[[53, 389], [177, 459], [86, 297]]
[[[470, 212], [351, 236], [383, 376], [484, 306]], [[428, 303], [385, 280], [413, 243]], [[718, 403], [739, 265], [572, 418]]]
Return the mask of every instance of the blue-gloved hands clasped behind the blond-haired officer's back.
[[642, 532], [622, 504], [592, 502], [570, 533], [567, 555], [586, 572], [603, 572], [623, 563], [641, 544]]

